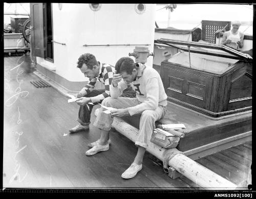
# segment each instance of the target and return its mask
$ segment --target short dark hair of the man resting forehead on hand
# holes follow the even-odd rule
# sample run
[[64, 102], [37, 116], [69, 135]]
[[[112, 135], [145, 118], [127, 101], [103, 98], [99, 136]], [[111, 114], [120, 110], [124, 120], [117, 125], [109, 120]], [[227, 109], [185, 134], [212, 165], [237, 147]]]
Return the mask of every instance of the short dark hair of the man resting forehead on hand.
[[136, 65], [132, 58], [130, 57], [122, 57], [116, 62], [116, 72], [126, 72], [127, 74], [132, 74], [133, 69], [136, 68]]

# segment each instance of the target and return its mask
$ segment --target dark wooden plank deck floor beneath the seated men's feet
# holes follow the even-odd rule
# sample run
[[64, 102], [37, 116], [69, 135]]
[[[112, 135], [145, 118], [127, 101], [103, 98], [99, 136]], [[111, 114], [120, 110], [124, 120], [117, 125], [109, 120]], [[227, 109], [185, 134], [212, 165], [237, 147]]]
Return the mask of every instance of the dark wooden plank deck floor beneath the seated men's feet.
[[[137, 147], [116, 131], [111, 132], [109, 151], [86, 156], [87, 144], [98, 139], [99, 131], [91, 124], [88, 131], [69, 134], [77, 125], [77, 104], [68, 103], [53, 87], [32, 85], [30, 81], [39, 78], [29, 56], [5, 57], [4, 64], [3, 187], [198, 189], [184, 176], [169, 178], [161, 162], [147, 152], [138, 175], [122, 179]], [[94, 119], [92, 114], [92, 123]], [[246, 187], [251, 181], [251, 147], [248, 142], [196, 161]]]

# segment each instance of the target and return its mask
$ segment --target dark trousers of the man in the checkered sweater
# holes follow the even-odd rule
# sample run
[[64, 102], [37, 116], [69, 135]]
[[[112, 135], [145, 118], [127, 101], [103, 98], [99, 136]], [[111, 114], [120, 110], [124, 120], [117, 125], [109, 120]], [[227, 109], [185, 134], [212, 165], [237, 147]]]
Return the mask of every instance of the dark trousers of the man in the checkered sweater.
[[[94, 96], [97, 96], [97, 95], [99, 95], [103, 92], [105, 92], [104, 89], [95, 89], [95, 90], [92, 90], [92, 92], [90, 92], [89, 94], [84, 95], [84, 97], [94, 97]], [[134, 97], [136, 97], [136, 92], [133, 90], [132, 87], [129, 86], [128, 88], [126, 88], [123, 91], [121, 96], [122, 97], [134, 98]], [[99, 103], [101, 103], [101, 102], [102, 101], [100, 101]], [[94, 105], [97, 105], [97, 104], [98, 103], [94, 103]], [[90, 125], [90, 123], [91, 123], [91, 113], [92, 113], [94, 105], [87, 104], [86, 106], [80, 106], [77, 121], [81, 125], [83, 125], [83, 126]]]

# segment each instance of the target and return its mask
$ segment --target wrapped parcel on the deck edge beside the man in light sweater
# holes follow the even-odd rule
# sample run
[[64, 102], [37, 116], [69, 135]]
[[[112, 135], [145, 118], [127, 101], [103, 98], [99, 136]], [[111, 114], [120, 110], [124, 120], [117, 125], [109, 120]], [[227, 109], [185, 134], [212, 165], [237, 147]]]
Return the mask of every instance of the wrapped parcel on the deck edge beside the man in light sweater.
[[162, 129], [154, 129], [151, 137], [151, 142], [163, 148], [175, 148], [180, 138]]

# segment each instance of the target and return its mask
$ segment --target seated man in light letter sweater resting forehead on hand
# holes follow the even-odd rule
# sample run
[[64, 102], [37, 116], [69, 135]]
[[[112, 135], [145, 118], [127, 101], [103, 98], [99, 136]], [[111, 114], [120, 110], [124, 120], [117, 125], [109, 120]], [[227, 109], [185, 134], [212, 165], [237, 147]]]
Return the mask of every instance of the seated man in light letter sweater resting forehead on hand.
[[[108, 134], [113, 117], [141, 114], [139, 134], [135, 142], [138, 152], [132, 165], [121, 175], [122, 178], [129, 179], [135, 177], [142, 169], [143, 156], [155, 128], [155, 121], [164, 117], [166, 113], [167, 95], [160, 75], [154, 68], [134, 63], [133, 59], [124, 57], [118, 60], [116, 70], [117, 73], [114, 74], [110, 86], [111, 97], [102, 101], [102, 105], [116, 108], [116, 110], [106, 114], [102, 113], [105, 109], [100, 108], [94, 126], [101, 130], [101, 136], [99, 142], [88, 150], [86, 155], [91, 156], [109, 150]], [[120, 97], [128, 84], [135, 89], [136, 98]]]

